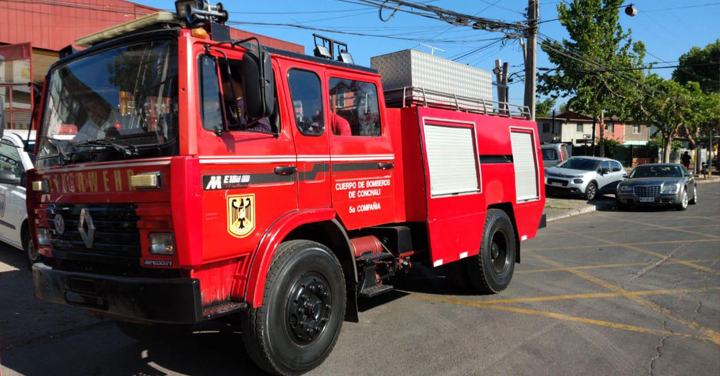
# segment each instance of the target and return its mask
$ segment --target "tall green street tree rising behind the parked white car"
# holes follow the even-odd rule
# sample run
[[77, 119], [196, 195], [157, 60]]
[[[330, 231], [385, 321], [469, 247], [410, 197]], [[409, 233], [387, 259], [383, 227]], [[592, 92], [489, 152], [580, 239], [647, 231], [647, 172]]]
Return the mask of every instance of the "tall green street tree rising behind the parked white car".
[[[599, 119], [600, 155], [604, 155], [605, 118], [628, 118], [629, 80], [642, 79], [645, 46], [633, 42], [631, 30], [620, 26], [622, 0], [573, 0], [558, 5], [558, 18], [568, 39], [545, 39], [541, 48], [553, 71], [539, 75], [538, 92], [568, 97], [574, 111]], [[631, 85], [630, 85], [631, 86]]]

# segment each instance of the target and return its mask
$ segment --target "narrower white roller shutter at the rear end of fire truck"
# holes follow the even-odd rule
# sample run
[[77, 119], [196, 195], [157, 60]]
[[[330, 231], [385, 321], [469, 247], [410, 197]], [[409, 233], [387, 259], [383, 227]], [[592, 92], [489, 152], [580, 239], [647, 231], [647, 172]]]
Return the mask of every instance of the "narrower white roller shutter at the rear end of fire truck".
[[532, 134], [510, 132], [515, 166], [515, 199], [517, 202], [538, 198], [535, 144]]

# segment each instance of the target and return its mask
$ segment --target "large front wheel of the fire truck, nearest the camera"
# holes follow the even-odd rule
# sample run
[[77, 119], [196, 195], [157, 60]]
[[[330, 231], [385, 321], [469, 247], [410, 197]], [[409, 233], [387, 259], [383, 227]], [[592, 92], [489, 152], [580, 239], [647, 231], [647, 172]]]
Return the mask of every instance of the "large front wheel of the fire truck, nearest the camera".
[[340, 262], [327, 247], [308, 240], [281, 244], [267, 273], [263, 305], [242, 320], [248, 355], [277, 375], [319, 366], [340, 335], [345, 295]]

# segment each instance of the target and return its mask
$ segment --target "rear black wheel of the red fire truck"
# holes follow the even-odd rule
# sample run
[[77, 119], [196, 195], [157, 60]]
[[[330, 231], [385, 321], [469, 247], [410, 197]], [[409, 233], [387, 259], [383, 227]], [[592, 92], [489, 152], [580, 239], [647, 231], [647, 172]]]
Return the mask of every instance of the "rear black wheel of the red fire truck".
[[512, 280], [516, 255], [515, 229], [510, 217], [499, 209], [488, 210], [480, 253], [465, 260], [472, 289], [482, 294], [505, 290]]

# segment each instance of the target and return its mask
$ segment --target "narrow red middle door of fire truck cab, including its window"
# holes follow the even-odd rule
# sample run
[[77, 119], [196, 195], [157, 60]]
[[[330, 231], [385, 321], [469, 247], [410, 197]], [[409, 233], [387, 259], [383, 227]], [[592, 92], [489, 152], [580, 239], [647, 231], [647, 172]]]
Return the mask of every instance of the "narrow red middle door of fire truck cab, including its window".
[[330, 151], [320, 76], [303, 65], [287, 70], [298, 160], [298, 207], [330, 207]]

